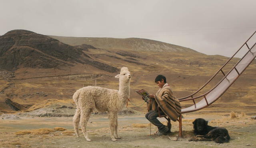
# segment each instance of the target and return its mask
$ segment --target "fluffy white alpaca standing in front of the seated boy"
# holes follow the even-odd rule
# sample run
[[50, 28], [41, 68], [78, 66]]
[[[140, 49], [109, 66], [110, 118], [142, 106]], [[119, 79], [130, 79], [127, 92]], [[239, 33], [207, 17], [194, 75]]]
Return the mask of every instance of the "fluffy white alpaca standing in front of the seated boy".
[[117, 113], [124, 107], [130, 97], [131, 75], [127, 67], [122, 67], [120, 74], [115, 77], [119, 78], [119, 90], [87, 86], [78, 89], [74, 93], [73, 100], [76, 103], [76, 113], [73, 123], [78, 137], [78, 123], [80, 121], [84, 137], [87, 141], [91, 141], [88, 138], [86, 124], [92, 111], [96, 108], [100, 112], [108, 111], [110, 137], [113, 141], [116, 141], [116, 138], [120, 139], [117, 134]]

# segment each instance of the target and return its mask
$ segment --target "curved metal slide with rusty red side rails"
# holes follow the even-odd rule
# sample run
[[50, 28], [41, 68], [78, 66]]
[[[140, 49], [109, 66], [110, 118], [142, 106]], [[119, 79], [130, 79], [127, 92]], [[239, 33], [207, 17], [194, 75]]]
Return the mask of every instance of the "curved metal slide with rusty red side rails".
[[[248, 65], [250, 65], [250, 63], [256, 57], [256, 41], [253, 42], [252, 47], [248, 46], [248, 41], [252, 41], [252, 37], [255, 33], [256, 32], [254, 32], [252, 36], [240, 47], [240, 49], [242, 49], [242, 47], [247, 47], [248, 52], [246, 52], [246, 54], [236, 63], [236, 65], [234, 65], [234, 67], [232, 67], [232, 69], [230, 69], [228, 73], [225, 74], [222, 69], [238, 53], [238, 51], [240, 51], [240, 49], [238, 49], [238, 51], [236, 51], [236, 53], [232, 57], [230, 57], [230, 59], [228, 59], [228, 61], [214, 74], [214, 76], [212, 76], [209, 81], [207, 81], [200, 89], [198, 89], [198, 91], [187, 97], [179, 98], [180, 102], [192, 100], [194, 103], [194, 105], [182, 109], [181, 113], [194, 112], [208, 107], [218, 98], [220, 98], [223, 93], [225, 93], [225, 91], [234, 83], [234, 81], [236, 81], [236, 79], [242, 74], [242, 72], [248, 67]], [[223, 74], [222, 79], [212, 89], [210, 89], [210, 91], [207, 91], [206, 93], [198, 97], [193, 97], [193, 95], [196, 95], [198, 92], [200, 92], [220, 72], [222, 72]], [[195, 103], [195, 99], [201, 99], [201, 101]]]

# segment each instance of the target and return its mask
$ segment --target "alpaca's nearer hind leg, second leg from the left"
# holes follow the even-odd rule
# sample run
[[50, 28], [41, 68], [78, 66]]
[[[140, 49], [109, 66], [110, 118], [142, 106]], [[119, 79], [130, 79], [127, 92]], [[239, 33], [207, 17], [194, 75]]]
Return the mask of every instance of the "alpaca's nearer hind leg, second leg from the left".
[[86, 141], [92, 141], [88, 138], [88, 133], [86, 131], [86, 124], [90, 118], [91, 113], [92, 109], [81, 109], [80, 125], [84, 134], [84, 138], [86, 138]]

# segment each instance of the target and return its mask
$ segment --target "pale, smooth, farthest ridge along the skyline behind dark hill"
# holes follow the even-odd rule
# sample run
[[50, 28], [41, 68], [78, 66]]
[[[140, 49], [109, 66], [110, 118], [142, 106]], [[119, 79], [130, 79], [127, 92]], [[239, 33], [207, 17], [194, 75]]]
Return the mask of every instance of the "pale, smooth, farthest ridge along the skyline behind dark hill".
[[[151, 39], [142, 38], [107, 38], [107, 37], [63, 37], [63, 36], [49, 36], [58, 39], [63, 43], [69, 45], [89, 44], [94, 47], [103, 49], [125, 49], [137, 51], [180, 51], [180, 52], [194, 52], [199, 53], [193, 49], [164, 43], [161, 41], [154, 41]], [[202, 53], [201, 53], [202, 54]]]

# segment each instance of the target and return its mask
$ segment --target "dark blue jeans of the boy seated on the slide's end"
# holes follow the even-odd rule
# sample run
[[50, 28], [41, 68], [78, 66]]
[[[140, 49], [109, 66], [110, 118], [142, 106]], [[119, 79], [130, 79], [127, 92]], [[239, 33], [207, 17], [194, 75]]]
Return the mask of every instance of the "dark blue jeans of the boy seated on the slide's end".
[[[161, 132], [167, 132], [166, 126], [162, 124], [158, 119], [158, 112], [151, 110], [150, 112], [146, 113], [145, 117], [152, 123], [154, 124], [158, 130]], [[168, 129], [168, 128], [167, 128]]]

